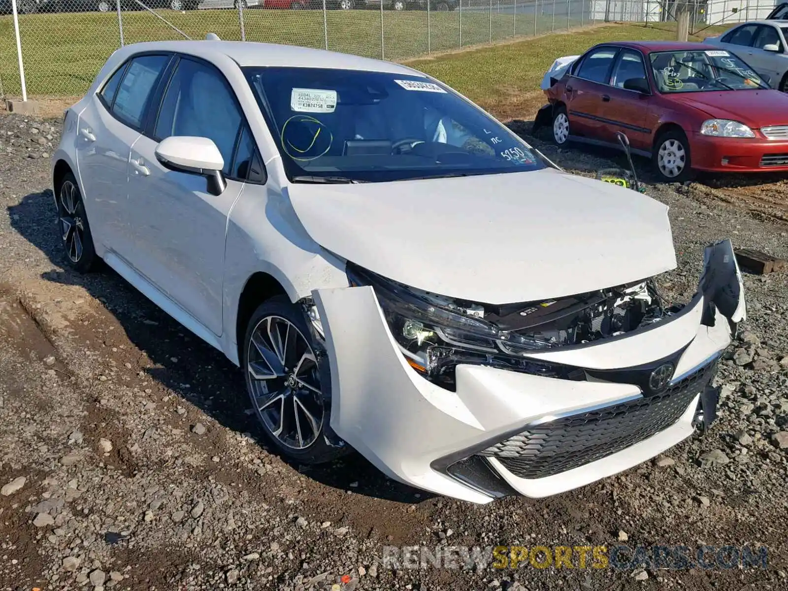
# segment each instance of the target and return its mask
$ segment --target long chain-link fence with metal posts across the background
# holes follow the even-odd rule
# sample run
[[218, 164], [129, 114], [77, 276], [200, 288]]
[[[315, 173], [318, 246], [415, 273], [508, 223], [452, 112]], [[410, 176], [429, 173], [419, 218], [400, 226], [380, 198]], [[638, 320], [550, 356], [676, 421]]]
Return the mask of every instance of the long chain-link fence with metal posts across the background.
[[[0, 95], [76, 96], [118, 47], [221, 39], [403, 60], [597, 21], [675, 20], [676, 0], [0, 0]], [[678, 0], [691, 28], [763, 18], [775, 0]]]

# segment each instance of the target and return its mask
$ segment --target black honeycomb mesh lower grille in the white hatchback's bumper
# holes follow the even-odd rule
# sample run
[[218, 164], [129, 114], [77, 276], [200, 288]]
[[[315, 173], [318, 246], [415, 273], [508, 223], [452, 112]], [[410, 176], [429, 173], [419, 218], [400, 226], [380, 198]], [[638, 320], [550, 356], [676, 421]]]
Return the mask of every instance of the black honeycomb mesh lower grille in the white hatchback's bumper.
[[673, 425], [711, 381], [712, 363], [665, 392], [530, 429], [481, 452], [519, 478], [545, 478], [620, 452]]

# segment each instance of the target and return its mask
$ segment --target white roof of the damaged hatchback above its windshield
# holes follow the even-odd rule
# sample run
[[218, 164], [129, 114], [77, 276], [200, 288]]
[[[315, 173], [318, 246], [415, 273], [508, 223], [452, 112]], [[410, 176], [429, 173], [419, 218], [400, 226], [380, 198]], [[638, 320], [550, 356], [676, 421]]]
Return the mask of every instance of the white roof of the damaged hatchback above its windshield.
[[[124, 51], [125, 50], [125, 51]], [[424, 76], [422, 72], [403, 65], [392, 64], [358, 55], [340, 54], [336, 51], [311, 49], [294, 45], [251, 43], [248, 41], [152, 41], [125, 46], [123, 53], [141, 51], [178, 51], [210, 59], [211, 54], [225, 54], [240, 66], [291, 66], [295, 68], [330, 68], [366, 70]], [[120, 53], [120, 52], [119, 52]]]

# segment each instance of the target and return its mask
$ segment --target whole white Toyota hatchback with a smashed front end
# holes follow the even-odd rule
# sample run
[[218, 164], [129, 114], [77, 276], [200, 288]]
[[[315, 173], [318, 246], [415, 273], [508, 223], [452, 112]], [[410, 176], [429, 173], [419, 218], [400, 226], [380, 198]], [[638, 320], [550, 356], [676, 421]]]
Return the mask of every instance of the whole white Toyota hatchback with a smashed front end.
[[745, 315], [727, 240], [663, 302], [667, 206], [575, 177], [413, 69], [217, 40], [115, 52], [52, 161], [72, 266], [103, 259], [238, 364], [318, 463], [485, 503], [708, 426]]

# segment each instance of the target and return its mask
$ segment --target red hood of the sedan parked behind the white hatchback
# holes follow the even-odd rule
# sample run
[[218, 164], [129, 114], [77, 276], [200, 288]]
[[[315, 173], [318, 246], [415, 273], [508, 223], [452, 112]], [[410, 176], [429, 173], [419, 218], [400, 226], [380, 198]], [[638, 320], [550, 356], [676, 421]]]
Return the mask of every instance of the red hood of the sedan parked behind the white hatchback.
[[693, 106], [709, 117], [741, 121], [753, 129], [788, 125], [788, 95], [780, 91], [682, 92], [671, 99]]

